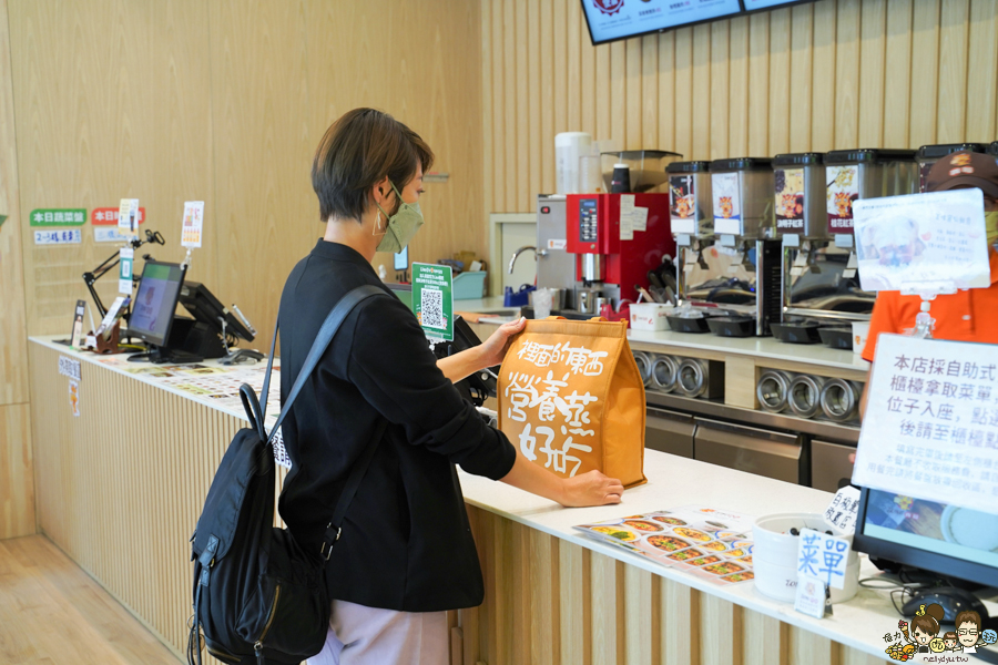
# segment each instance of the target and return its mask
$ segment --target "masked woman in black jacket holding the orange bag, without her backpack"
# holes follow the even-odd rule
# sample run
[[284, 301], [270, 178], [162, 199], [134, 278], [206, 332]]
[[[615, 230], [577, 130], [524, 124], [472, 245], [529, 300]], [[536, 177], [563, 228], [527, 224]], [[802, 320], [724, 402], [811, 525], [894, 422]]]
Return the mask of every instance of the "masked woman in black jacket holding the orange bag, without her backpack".
[[[422, 224], [432, 160], [415, 132], [371, 109], [326, 132], [312, 170], [326, 233], [281, 297], [282, 398], [336, 303], [360, 285], [385, 288], [370, 262], [401, 250]], [[562, 480], [532, 464], [454, 388], [499, 364], [522, 320], [437, 362], [416, 318], [385, 291], [347, 317], [283, 426], [294, 466], [281, 515], [318, 551], [352, 466], [387, 420], [332, 549], [333, 618], [313, 665], [446, 662], [445, 611], [479, 605], [485, 593], [455, 464], [563, 505], [619, 503], [623, 492], [597, 471]]]

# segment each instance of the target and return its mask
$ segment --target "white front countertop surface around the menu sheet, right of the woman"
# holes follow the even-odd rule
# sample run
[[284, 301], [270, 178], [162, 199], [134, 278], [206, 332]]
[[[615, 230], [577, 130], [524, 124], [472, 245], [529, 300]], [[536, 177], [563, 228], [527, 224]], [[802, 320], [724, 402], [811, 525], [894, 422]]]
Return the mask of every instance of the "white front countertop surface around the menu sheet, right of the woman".
[[[870, 655], [886, 657], [884, 634], [896, 631], [897, 622], [902, 618], [894, 610], [886, 591], [872, 591], [860, 586], [853, 600], [834, 606], [834, 616], [816, 620], [795, 612], [791, 603], [762, 595], [751, 582], [719, 586], [681, 570], [658, 565], [643, 556], [585, 538], [572, 529], [577, 524], [693, 503], [755, 516], [782, 512], [822, 512], [833, 494], [654, 450], [645, 450], [644, 473], [649, 479], [648, 483], [624, 492], [623, 503], [620, 505], [564, 509], [505, 483], [459, 472], [465, 501], [471, 505]], [[860, 580], [877, 574], [879, 571], [862, 554]], [[998, 591], [992, 589], [988, 592], [990, 595], [985, 595], [988, 598], [985, 604], [994, 616], [998, 614]], [[910, 617], [906, 618], [910, 621]]]

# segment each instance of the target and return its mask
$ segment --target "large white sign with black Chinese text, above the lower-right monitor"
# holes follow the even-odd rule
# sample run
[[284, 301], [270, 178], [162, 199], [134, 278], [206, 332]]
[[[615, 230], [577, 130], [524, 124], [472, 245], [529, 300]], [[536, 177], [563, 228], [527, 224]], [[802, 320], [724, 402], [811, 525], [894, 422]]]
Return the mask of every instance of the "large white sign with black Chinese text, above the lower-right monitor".
[[994, 513], [998, 347], [882, 334], [853, 483]]

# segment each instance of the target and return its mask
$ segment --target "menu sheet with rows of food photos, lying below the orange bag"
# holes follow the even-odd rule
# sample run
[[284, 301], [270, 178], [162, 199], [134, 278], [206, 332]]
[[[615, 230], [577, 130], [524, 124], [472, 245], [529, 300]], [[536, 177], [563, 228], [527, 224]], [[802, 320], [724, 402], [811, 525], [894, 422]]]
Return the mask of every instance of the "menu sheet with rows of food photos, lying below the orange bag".
[[755, 576], [755, 518], [705, 505], [683, 505], [576, 526], [585, 535], [719, 585]]

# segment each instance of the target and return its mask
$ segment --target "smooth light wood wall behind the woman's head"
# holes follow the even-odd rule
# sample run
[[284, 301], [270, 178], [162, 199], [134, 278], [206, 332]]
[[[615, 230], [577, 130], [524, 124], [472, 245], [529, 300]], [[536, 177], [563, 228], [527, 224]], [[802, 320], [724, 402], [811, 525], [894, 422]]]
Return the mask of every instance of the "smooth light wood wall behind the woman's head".
[[[167, 242], [140, 254], [180, 260], [183, 202], [204, 200], [205, 242], [190, 278], [238, 303], [265, 346], [285, 277], [322, 235], [315, 147], [337, 116], [367, 105], [419, 132], [436, 170], [450, 173], [427, 185], [427, 225], [410, 258], [488, 256], [478, 3], [9, 2], [24, 231], [37, 207], [90, 211], [135, 196]], [[11, 134], [3, 146], [12, 145]], [[17, 193], [17, 177], [8, 182]], [[95, 246], [89, 224], [79, 246], [35, 248], [23, 235], [28, 330], [68, 331], [73, 301], [86, 297], [80, 275], [115, 247]], [[375, 263], [391, 273], [390, 260]], [[100, 283], [102, 297], [113, 297], [113, 283]]]

